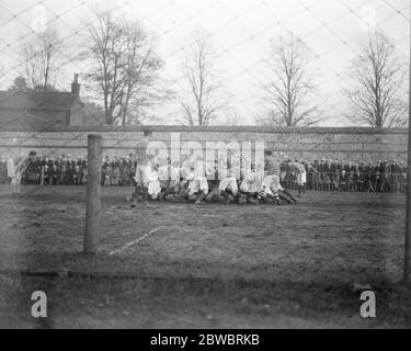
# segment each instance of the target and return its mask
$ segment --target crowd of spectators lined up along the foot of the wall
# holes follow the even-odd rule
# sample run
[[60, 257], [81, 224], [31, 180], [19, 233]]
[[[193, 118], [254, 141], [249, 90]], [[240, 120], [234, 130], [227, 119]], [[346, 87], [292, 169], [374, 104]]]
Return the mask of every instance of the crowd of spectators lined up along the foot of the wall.
[[[307, 172], [307, 190], [346, 192], [404, 192], [407, 168], [403, 161], [385, 160], [356, 162], [341, 160], [300, 161]], [[105, 157], [102, 162], [103, 186], [135, 185], [136, 162], [128, 157]], [[87, 160], [71, 158], [39, 158], [32, 162], [22, 177], [23, 184], [83, 185], [87, 183]], [[7, 159], [0, 158], [0, 183], [9, 182]], [[281, 182], [289, 190], [297, 188], [297, 173], [281, 163]]]

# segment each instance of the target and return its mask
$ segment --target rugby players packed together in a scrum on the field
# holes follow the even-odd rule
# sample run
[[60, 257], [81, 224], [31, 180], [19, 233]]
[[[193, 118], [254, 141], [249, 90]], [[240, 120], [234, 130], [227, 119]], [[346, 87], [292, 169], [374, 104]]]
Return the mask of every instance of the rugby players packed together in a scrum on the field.
[[[202, 152], [199, 152], [202, 154]], [[167, 159], [159, 165], [158, 155], [149, 158], [142, 174], [136, 177], [136, 191], [127, 196], [135, 207], [140, 200], [159, 202], [193, 202], [194, 204], [240, 203], [276, 205], [296, 204], [293, 194], [279, 182], [279, 162], [271, 150], [264, 151], [262, 166], [256, 167], [247, 154], [228, 150], [227, 157], [207, 161], [194, 150], [184, 161]], [[306, 170], [298, 162], [287, 160], [297, 174], [298, 194], [305, 191]]]

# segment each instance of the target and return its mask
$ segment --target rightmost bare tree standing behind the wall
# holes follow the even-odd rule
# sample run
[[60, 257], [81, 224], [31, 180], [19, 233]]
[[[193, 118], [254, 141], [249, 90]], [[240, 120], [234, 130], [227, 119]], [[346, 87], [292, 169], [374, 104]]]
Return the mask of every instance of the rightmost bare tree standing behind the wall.
[[353, 110], [347, 117], [374, 128], [403, 127], [408, 109], [400, 98], [404, 75], [389, 38], [378, 32], [369, 35], [352, 63], [353, 86], [344, 90]]

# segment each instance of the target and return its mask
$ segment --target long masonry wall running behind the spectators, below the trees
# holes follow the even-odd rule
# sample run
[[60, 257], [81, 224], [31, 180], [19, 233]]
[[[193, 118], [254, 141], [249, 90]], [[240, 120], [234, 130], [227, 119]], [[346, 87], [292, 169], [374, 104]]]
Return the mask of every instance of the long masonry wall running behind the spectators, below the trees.
[[[153, 139], [170, 148], [171, 139], [179, 139], [182, 148], [204, 148], [206, 143], [263, 141], [274, 155], [293, 159], [315, 160], [407, 160], [406, 129], [372, 128], [266, 128], [253, 126], [123, 126], [66, 127], [53, 131], [0, 131], [0, 156], [36, 150], [46, 157], [87, 155], [87, 136], [103, 137], [104, 156], [128, 156], [142, 137], [144, 129], [153, 132]], [[185, 143], [189, 143], [185, 144]], [[175, 147], [176, 144], [174, 144]]]

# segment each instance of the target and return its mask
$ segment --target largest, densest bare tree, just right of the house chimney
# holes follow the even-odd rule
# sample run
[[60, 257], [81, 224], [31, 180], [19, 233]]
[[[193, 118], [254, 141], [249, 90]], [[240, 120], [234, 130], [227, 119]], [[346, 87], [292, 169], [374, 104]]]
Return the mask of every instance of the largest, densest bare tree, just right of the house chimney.
[[138, 23], [115, 18], [110, 11], [94, 14], [96, 21], [88, 35], [93, 69], [88, 78], [102, 95], [105, 122], [138, 123], [140, 110], [158, 101], [155, 82], [162, 61]]

